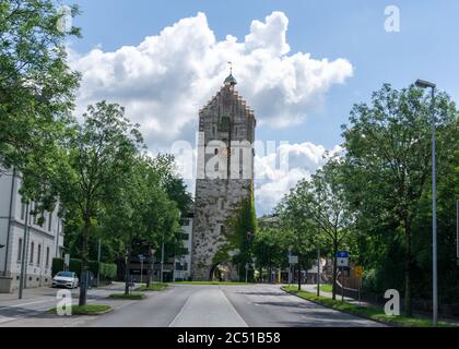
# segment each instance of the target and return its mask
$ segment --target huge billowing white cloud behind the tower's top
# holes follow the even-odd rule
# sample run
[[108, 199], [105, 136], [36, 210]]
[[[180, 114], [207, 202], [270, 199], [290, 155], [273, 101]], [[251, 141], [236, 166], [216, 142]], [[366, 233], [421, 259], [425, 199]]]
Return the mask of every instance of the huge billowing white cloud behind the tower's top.
[[231, 35], [219, 41], [205, 14], [198, 13], [138, 46], [71, 52], [72, 67], [82, 73], [78, 113], [101, 99], [123, 105], [153, 153], [177, 139], [192, 141], [198, 110], [220, 88], [232, 61], [259, 125], [297, 124], [321, 106], [333, 84], [352, 76], [353, 67], [345, 59], [291, 55], [287, 25], [284, 13], [273, 12], [254, 21], [244, 41]]

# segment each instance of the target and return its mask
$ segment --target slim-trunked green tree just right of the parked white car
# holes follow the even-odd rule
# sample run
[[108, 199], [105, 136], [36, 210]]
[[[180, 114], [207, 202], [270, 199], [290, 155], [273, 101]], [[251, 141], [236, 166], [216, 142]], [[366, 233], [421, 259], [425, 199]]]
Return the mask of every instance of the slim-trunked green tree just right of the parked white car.
[[[74, 127], [68, 143], [68, 164], [57, 181], [59, 197], [78, 217], [81, 234], [82, 278], [87, 270], [89, 239], [107, 204], [120, 198], [132, 161], [142, 145], [138, 128], [118, 105], [89, 106], [82, 124]], [[80, 305], [86, 289], [80, 288]]]

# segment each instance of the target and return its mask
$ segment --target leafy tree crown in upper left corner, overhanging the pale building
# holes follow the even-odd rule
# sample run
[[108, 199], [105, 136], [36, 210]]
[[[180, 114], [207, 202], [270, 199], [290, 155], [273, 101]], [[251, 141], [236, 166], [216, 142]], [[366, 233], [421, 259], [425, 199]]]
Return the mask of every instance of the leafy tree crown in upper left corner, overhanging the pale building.
[[79, 83], [63, 40], [80, 32], [60, 31], [61, 16], [50, 0], [0, 2], [0, 163], [21, 172], [24, 200], [37, 201], [39, 209], [55, 201], [49, 181], [61, 166], [58, 140]]

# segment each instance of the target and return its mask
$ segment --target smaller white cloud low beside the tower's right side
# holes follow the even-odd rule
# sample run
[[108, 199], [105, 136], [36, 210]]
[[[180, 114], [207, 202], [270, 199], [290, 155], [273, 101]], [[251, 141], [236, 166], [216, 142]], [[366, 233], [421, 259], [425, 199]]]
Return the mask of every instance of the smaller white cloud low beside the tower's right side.
[[[306, 142], [280, 145], [276, 153], [255, 158], [255, 197], [258, 214], [269, 213], [296, 183], [314, 174], [330, 156], [339, 154], [340, 146], [326, 149], [321, 145]], [[275, 161], [284, 154], [287, 166], [276, 166]]]

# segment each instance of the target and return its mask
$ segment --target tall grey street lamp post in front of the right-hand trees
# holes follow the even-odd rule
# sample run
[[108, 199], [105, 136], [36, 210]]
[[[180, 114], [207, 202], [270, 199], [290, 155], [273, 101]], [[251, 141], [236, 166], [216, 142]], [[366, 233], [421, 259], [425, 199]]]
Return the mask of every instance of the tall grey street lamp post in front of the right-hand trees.
[[435, 169], [435, 88], [436, 85], [424, 81], [417, 80], [415, 85], [420, 88], [431, 88], [432, 101], [432, 284], [433, 284], [433, 324], [438, 323], [438, 288], [437, 288], [437, 193], [436, 193], [436, 169]]

